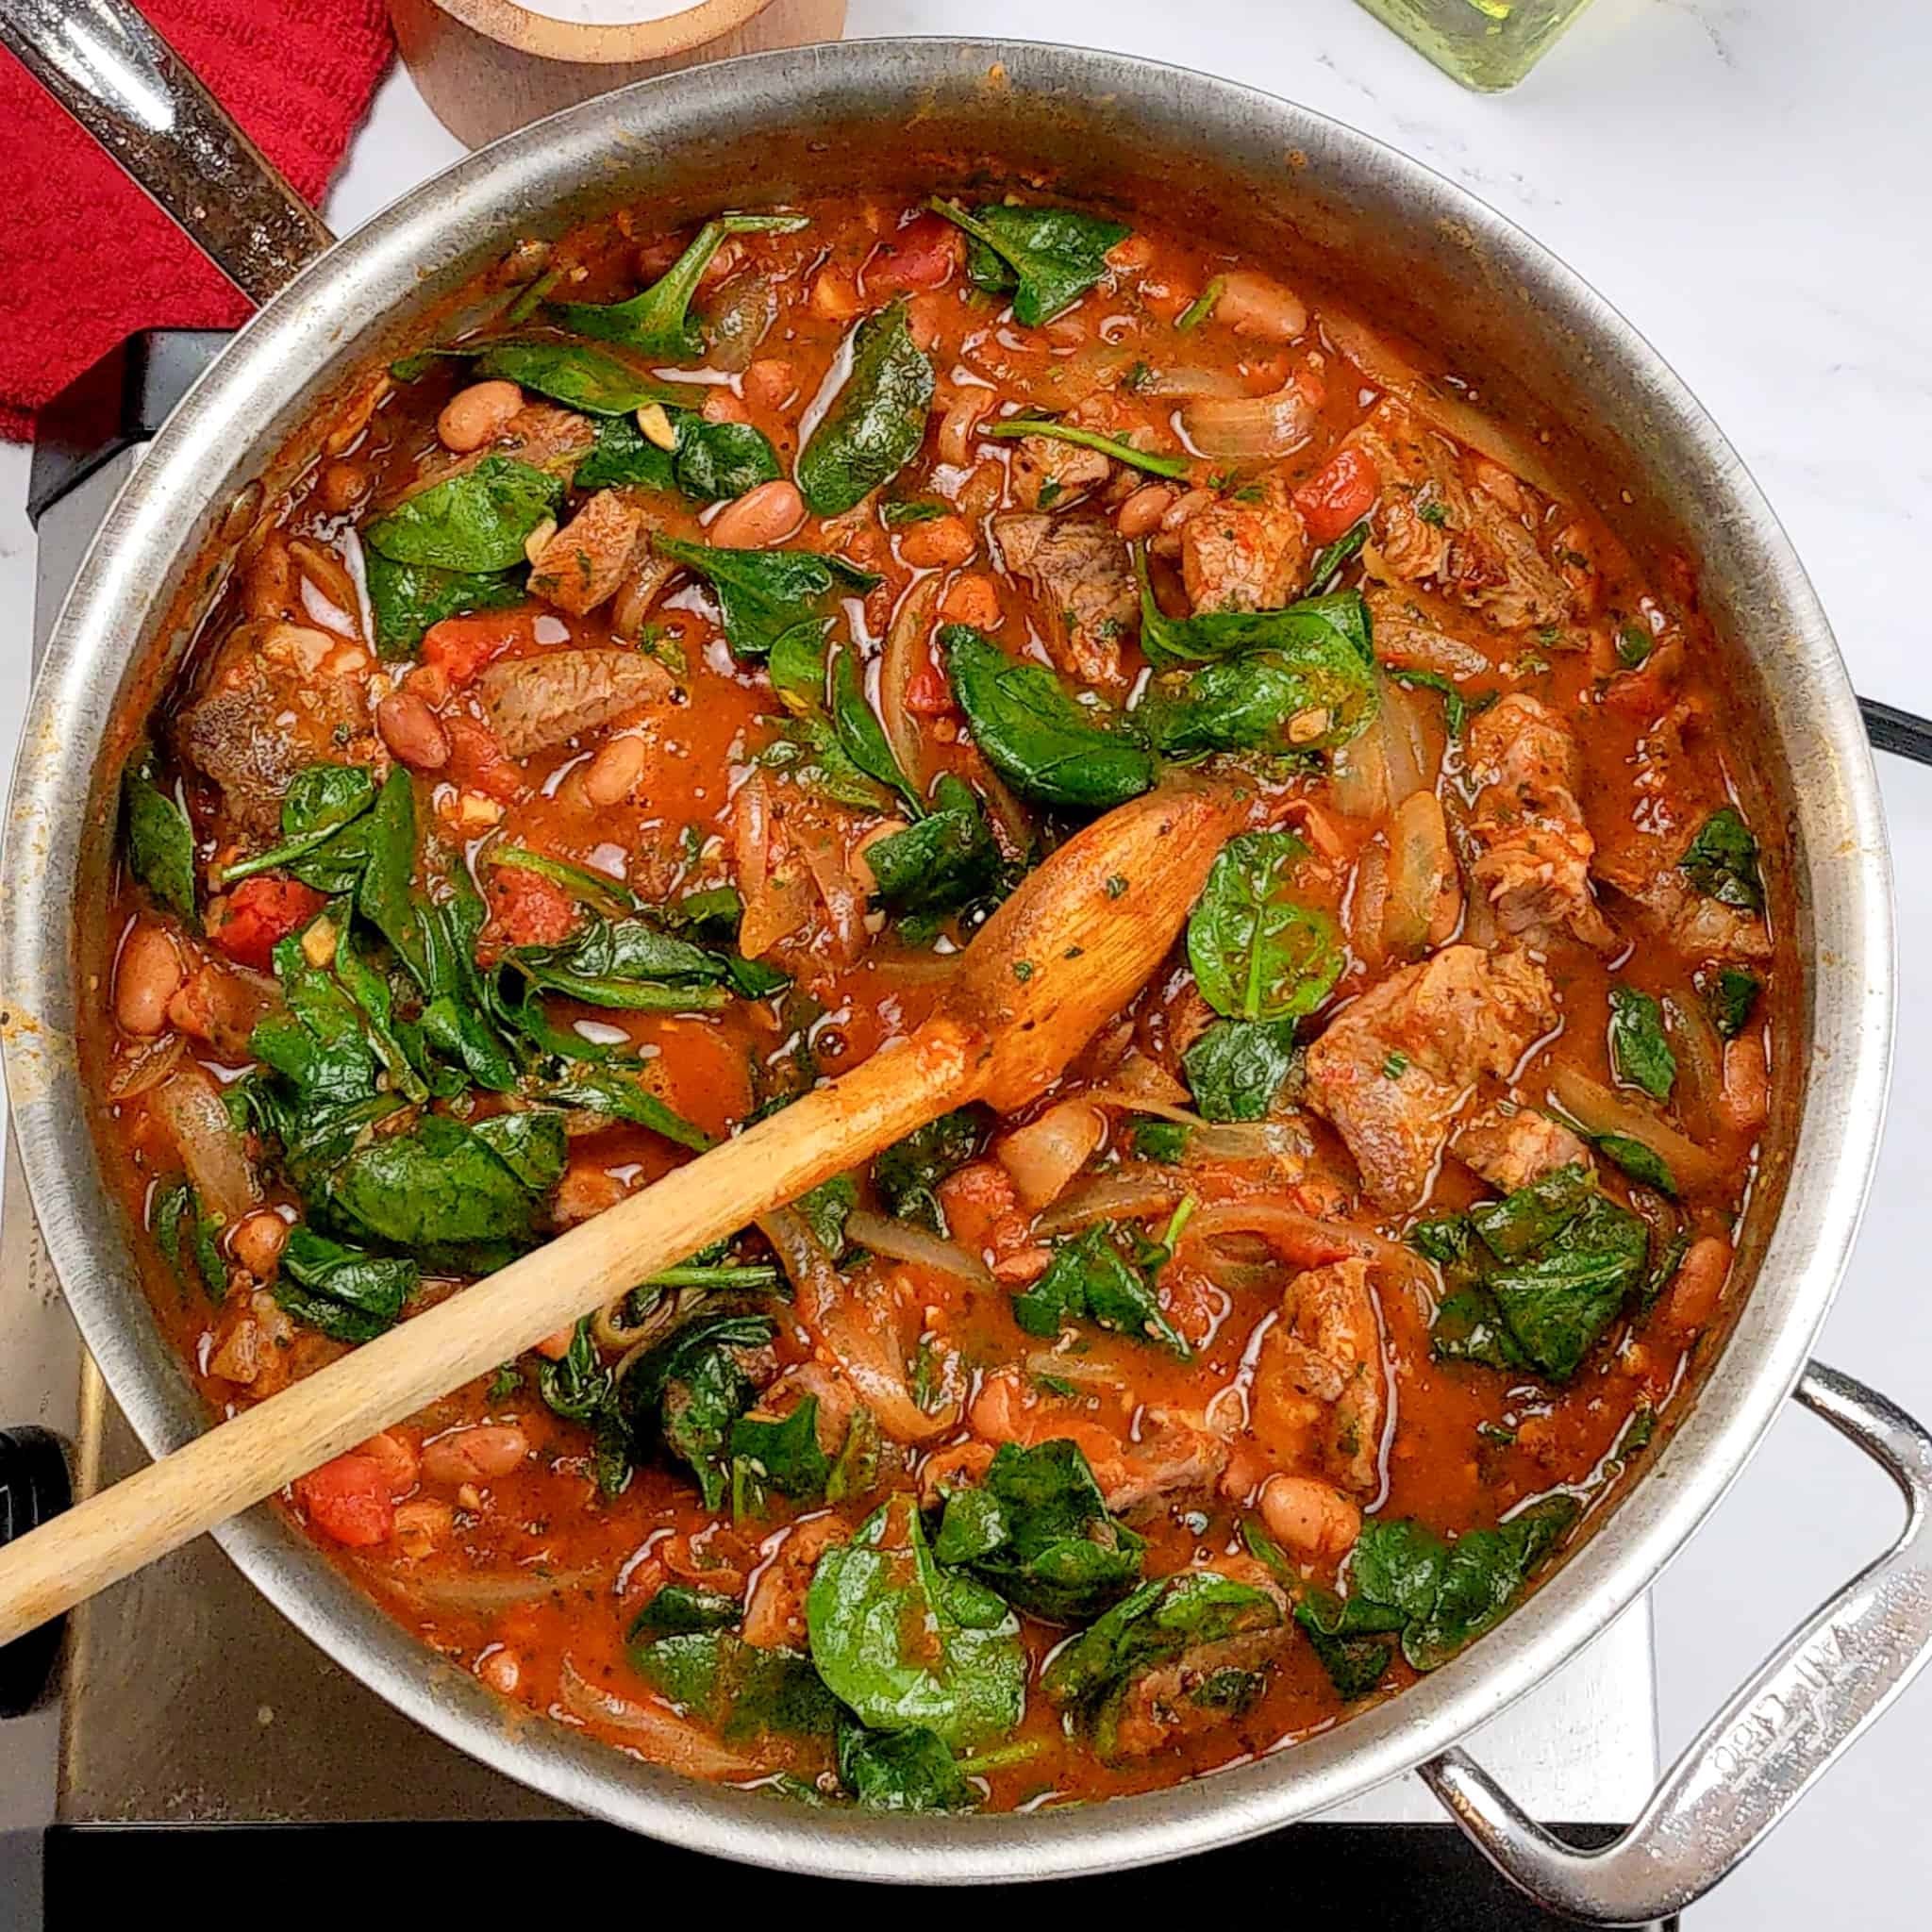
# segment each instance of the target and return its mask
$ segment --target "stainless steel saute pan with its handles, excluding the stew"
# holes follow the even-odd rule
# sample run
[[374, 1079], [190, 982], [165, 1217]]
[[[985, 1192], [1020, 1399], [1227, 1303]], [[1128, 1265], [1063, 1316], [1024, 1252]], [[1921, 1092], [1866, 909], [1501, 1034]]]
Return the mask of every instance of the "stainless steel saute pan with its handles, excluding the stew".
[[[1870, 753], [1824, 612], [1756, 485], [1683, 384], [1561, 263], [1401, 155], [1265, 95], [1059, 46], [869, 41], [738, 60], [609, 95], [417, 187], [346, 242], [195, 87], [122, 0], [0, 0], [6, 39], [263, 309], [155, 440], [54, 628], [6, 827], [0, 1005], [33, 1204], [89, 1349], [151, 1451], [205, 1426], [102, 1184], [75, 1026], [99, 1003], [118, 765], [259, 497], [299, 471], [317, 404], [520, 234], [649, 195], [667, 214], [808, 187], [1041, 168], [1068, 193], [1159, 193], [1169, 220], [1250, 253], [1327, 261], [1372, 311], [1428, 317], [1453, 367], [1565, 425], [1559, 468], [1629, 498], [1642, 553], [1681, 545], [1754, 748], [1777, 918], [1806, 966], [1774, 1150], [1741, 1231], [1754, 1277], [1681, 1424], [1526, 1607], [1335, 1731], [1155, 1797], [1036, 1816], [808, 1810], [690, 1783], [560, 1725], [512, 1718], [383, 1615], [269, 1507], [220, 1540], [315, 1642], [500, 1770], [682, 1845], [833, 1876], [1007, 1880], [1225, 1845], [1410, 1768], [1544, 1901], [1604, 1924], [1663, 1917], [1733, 1866], [1872, 1721], [1932, 1646], [1932, 1439], [1808, 1360], [1878, 1151], [1891, 1047], [1891, 887]], [[427, 325], [425, 325], [427, 327]], [[1561, 439], [1559, 439], [1561, 440]], [[170, 616], [172, 612], [172, 616]], [[1457, 1741], [1631, 1604], [1739, 1472], [1783, 1401], [1857, 1441], [1909, 1505], [1899, 1542], [1710, 1723], [1644, 1816], [1578, 1855]]]

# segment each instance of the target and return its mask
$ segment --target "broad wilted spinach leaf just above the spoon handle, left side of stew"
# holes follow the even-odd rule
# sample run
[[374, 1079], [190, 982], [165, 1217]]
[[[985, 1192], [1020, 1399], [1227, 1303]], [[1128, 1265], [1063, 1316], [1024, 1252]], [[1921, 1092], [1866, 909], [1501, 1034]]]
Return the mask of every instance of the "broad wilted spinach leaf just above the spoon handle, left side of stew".
[[328, 1182], [328, 1211], [427, 1267], [464, 1273], [487, 1273], [537, 1233], [531, 1190], [487, 1140], [440, 1113], [350, 1153]]

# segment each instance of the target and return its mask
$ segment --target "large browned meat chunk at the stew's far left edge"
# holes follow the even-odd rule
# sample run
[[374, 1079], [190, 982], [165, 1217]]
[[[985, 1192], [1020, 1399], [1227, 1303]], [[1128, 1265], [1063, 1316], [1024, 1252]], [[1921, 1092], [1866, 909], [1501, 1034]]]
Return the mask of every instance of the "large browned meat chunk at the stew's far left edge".
[[240, 624], [214, 653], [174, 742], [220, 786], [224, 833], [272, 840], [288, 781], [307, 765], [386, 767], [365, 682], [323, 668], [340, 645], [299, 624]]

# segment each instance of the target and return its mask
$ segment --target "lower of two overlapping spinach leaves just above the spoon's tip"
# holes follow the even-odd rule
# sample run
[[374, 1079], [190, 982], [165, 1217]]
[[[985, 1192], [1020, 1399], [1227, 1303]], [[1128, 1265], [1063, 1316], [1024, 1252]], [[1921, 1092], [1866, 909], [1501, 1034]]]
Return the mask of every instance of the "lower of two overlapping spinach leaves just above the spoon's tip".
[[1279, 757], [1349, 744], [1368, 730], [1379, 705], [1374, 670], [1327, 626], [1308, 645], [1240, 651], [1202, 665], [1188, 678], [1157, 678], [1136, 715], [1163, 757], [1209, 752]]

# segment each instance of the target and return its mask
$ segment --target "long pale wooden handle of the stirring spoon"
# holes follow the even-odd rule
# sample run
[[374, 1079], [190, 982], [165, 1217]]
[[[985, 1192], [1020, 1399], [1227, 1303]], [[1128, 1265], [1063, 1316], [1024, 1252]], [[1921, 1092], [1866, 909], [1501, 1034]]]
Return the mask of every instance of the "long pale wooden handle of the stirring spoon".
[[607, 1213], [0, 1549], [0, 1644], [178, 1549], [661, 1267], [970, 1099], [983, 1043], [933, 1020]]

